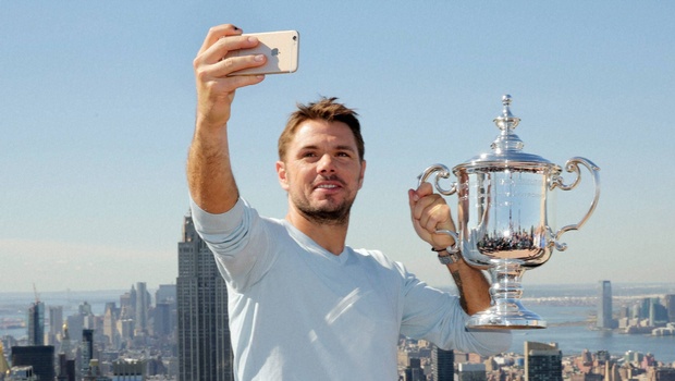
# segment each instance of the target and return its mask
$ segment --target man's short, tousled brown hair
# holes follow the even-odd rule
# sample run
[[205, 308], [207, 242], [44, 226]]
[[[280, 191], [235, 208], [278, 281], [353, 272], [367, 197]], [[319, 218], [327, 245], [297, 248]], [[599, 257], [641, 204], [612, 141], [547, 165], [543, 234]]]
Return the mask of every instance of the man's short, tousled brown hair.
[[357, 119], [358, 113], [336, 100], [338, 98], [335, 97], [322, 97], [319, 101], [309, 105], [297, 103], [297, 110], [291, 114], [289, 122], [286, 122], [286, 127], [279, 137], [279, 160], [285, 160], [286, 147], [295, 136], [297, 126], [310, 120], [342, 122], [346, 124], [354, 134], [358, 157], [360, 160], [364, 160], [366, 148], [364, 137], [361, 136], [360, 123]]

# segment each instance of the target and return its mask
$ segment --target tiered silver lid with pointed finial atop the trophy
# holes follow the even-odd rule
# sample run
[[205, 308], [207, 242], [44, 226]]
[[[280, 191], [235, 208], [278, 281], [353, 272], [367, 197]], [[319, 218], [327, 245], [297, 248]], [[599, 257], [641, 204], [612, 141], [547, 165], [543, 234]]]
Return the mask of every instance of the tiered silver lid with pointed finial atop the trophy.
[[520, 119], [511, 113], [511, 101], [510, 95], [502, 97], [502, 105], [504, 106], [502, 114], [493, 120], [501, 133], [490, 146], [492, 151], [475, 156], [467, 162], [456, 165], [453, 171], [483, 169], [537, 171], [559, 167], [538, 155], [523, 151], [525, 144], [514, 133], [514, 130], [520, 123]]

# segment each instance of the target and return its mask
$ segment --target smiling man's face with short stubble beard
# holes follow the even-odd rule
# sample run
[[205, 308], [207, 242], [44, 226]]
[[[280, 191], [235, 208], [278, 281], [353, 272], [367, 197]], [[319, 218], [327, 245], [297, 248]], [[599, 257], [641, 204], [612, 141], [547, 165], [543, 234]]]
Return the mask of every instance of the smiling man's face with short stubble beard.
[[319, 223], [347, 221], [365, 170], [349, 127], [322, 120], [300, 123], [284, 161], [277, 162], [291, 208]]

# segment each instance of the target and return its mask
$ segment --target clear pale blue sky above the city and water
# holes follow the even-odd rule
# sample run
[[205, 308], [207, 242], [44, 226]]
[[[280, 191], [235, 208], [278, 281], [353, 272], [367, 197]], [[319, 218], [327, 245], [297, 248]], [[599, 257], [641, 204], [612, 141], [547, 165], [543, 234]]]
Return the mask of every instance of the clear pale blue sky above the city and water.
[[[602, 169], [596, 213], [526, 290], [670, 282], [673, 14], [627, 1], [0, 0], [0, 290], [175, 282], [192, 60], [226, 22], [300, 33], [297, 73], [241, 89], [230, 123], [237, 182], [261, 213], [285, 214], [275, 145], [294, 105], [340, 97], [361, 115], [368, 161], [348, 244], [449, 285], [406, 190], [429, 164], [488, 151], [511, 94], [526, 151]], [[557, 195], [560, 225], [584, 213], [590, 183]]]

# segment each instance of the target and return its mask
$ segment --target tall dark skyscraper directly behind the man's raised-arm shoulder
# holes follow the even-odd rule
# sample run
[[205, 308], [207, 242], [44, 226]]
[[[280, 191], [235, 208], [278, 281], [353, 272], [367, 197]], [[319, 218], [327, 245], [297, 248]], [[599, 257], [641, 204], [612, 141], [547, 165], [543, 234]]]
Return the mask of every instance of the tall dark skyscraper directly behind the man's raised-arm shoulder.
[[233, 380], [228, 288], [191, 216], [179, 243], [176, 299], [179, 379]]

